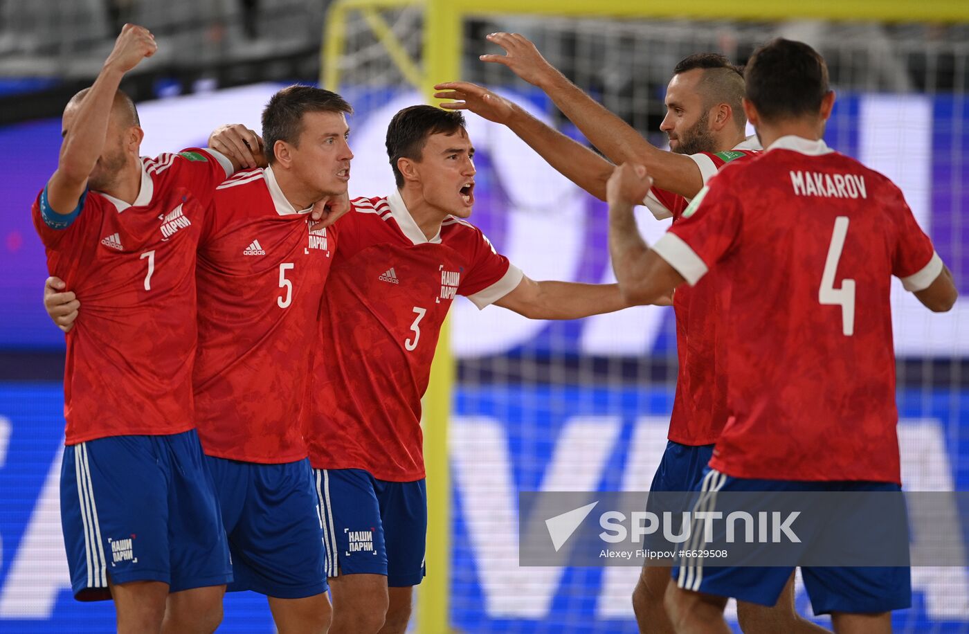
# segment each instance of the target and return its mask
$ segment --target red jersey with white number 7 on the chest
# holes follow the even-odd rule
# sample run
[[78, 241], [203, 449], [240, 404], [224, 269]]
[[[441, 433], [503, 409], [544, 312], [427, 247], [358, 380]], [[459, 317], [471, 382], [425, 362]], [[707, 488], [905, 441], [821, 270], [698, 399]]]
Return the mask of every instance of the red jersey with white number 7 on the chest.
[[47, 270], [84, 302], [66, 337], [68, 445], [195, 427], [196, 246], [205, 206], [231, 173], [214, 150], [142, 158], [134, 205], [88, 191], [73, 221], [49, 210], [46, 189], [38, 195]]

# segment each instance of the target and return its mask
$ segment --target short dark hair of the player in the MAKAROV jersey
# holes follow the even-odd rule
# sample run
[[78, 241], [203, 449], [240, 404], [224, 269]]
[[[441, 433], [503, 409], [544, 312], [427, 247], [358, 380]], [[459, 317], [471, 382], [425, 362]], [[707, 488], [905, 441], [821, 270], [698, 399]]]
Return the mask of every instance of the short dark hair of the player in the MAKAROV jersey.
[[828, 65], [818, 51], [777, 38], [758, 48], [744, 70], [747, 99], [767, 121], [817, 114], [828, 94]]

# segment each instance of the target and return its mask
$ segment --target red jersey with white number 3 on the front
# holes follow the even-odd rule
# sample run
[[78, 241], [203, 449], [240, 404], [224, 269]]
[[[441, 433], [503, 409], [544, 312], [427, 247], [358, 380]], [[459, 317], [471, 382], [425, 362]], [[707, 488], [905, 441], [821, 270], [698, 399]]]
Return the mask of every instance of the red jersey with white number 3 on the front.
[[463, 220], [448, 218], [428, 240], [399, 193], [355, 200], [336, 227], [305, 432], [310, 463], [420, 480], [421, 397], [454, 295], [484, 308], [522, 273]]

